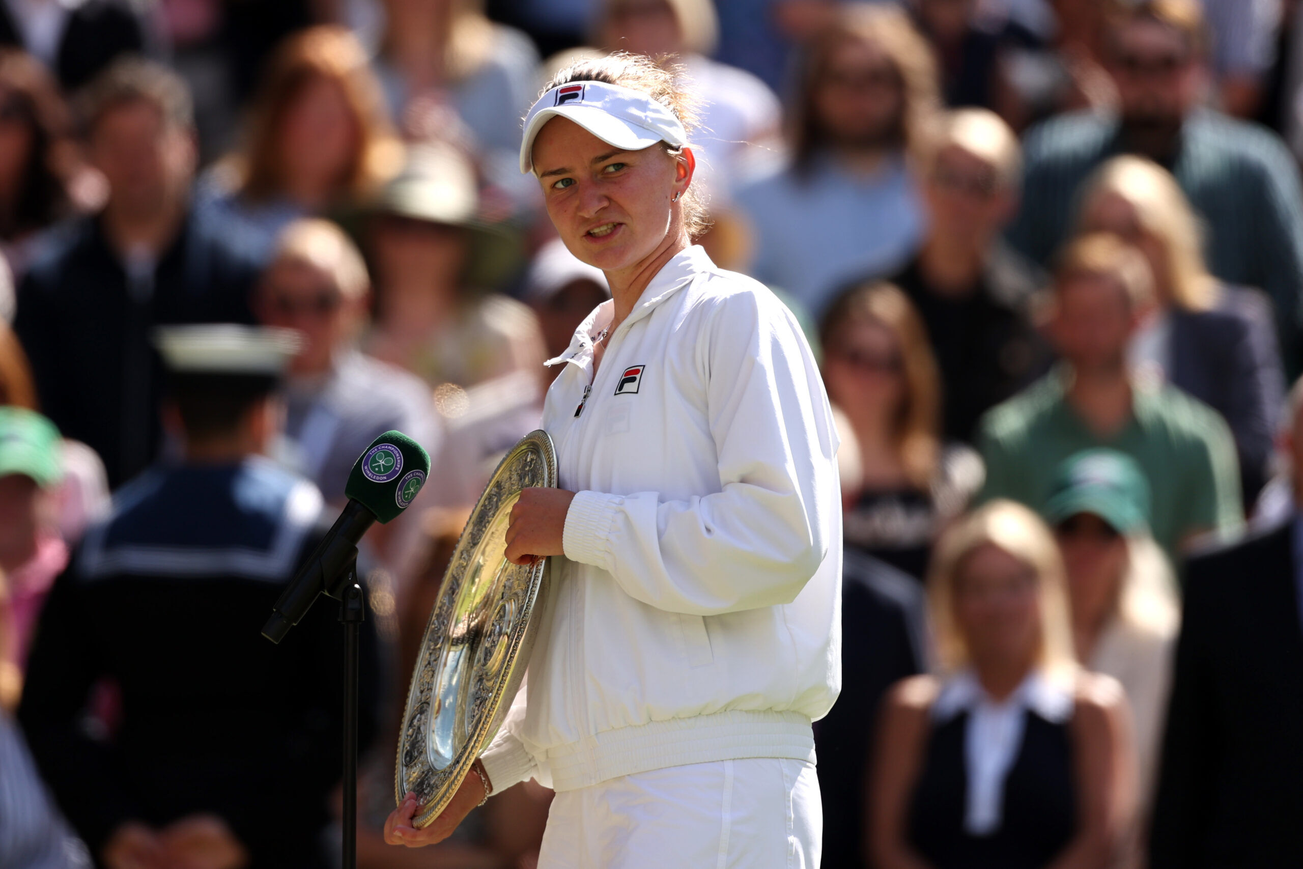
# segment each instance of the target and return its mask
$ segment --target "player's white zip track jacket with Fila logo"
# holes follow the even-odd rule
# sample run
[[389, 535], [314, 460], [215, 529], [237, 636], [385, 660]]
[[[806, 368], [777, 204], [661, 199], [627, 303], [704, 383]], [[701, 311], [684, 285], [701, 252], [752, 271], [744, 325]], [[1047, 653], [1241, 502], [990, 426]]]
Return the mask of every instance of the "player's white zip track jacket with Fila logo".
[[840, 691], [837, 434], [810, 348], [762, 284], [701, 248], [611, 336], [579, 327], [547, 392], [577, 491], [539, 634], [483, 753], [495, 791], [685, 763], [814, 760]]

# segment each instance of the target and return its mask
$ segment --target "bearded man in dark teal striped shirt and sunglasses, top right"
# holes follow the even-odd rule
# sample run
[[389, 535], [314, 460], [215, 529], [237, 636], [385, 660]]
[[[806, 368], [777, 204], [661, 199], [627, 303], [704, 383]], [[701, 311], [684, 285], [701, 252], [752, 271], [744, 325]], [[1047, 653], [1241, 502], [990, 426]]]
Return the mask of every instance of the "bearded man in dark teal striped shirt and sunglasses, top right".
[[1270, 296], [1286, 367], [1303, 362], [1303, 197], [1293, 156], [1270, 132], [1204, 108], [1208, 35], [1196, 0], [1123, 4], [1106, 27], [1118, 112], [1055, 117], [1028, 133], [1022, 210], [1009, 231], [1044, 263], [1072, 235], [1081, 182], [1118, 154], [1175, 176], [1208, 225], [1209, 271]]

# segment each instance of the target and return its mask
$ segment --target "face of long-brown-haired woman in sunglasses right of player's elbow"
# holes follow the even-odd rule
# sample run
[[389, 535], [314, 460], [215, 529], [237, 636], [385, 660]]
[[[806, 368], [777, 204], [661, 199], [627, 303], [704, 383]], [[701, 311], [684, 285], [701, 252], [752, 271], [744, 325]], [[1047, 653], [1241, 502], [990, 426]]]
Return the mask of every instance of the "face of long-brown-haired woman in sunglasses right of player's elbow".
[[847, 326], [823, 348], [823, 382], [852, 422], [894, 418], [906, 396], [900, 344], [876, 321]]

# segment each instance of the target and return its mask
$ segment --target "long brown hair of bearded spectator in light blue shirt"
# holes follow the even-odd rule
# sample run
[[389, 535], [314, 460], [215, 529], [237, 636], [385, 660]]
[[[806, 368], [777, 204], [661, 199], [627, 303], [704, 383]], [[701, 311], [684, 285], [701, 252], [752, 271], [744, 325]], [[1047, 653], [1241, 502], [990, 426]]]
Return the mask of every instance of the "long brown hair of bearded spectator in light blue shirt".
[[796, 165], [808, 167], [822, 145], [814, 91], [822, 85], [833, 52], [848, 42], [877, 46], [895, 66], [903, 94], [899, 145], [913, 156], [921, 156], [941, 107], [936, 53], [902, 9], [856, 3], [842, 7], [835, 21], [814, 36], [808, 50], [799, 76], [797, 99], [790, 113]]

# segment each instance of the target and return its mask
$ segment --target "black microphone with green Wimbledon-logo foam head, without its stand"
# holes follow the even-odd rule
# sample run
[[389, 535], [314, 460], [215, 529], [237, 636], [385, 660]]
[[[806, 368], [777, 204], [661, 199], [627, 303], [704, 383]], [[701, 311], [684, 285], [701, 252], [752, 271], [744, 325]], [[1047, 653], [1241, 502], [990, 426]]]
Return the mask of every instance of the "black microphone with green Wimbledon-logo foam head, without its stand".
[[430, 474], [430, 456], [401, 431], [386, 431], [362, 451], [348, 476], [348, 504], [285, 589], [262, 636], [280, 642], [308, 615], [318, 594], [336, 599], [344, 590], [357, 542], [379, 521], [394, 520], [408, 508]]

